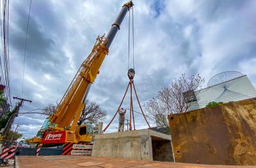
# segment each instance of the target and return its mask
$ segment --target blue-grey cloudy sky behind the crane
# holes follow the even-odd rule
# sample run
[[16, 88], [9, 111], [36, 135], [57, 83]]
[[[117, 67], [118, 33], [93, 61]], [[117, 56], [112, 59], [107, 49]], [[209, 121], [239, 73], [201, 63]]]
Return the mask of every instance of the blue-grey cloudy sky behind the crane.
[[[12, 95], [33, 101], [25, 102], [20, 112], [60, 101], [95, 39], [108, 33], [125, 1], [32, 1], [22, 93], [29, 3], [10, 1]], [[134, 0], [134, 4], [134, 83], [142, 104], [182, 73], [199, 73], [206, 85], [215, 74], [240, 71], [256, 85], [256, 1]], [[108, 111], [104, 125], [127, 87], [127, 62], [126, 18], [88, 95]], [[127, 100], [124, 108], [129, 108]], [[135, 110], [139, 111], [137, 105]], [[22, 124], [19, 132], [31, 137], [44, 119], [23, 115], [15, 122]], [[116, 122], [109, 132], [116, 130]], [[136, 125], [146, 127], [139, 114]]]

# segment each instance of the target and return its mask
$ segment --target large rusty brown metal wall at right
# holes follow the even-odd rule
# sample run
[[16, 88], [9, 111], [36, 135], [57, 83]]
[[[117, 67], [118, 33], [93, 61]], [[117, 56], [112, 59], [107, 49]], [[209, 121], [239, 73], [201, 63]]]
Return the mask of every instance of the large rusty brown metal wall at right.
[[168, 120], [176, 162], [256, 165], [256, 98]]

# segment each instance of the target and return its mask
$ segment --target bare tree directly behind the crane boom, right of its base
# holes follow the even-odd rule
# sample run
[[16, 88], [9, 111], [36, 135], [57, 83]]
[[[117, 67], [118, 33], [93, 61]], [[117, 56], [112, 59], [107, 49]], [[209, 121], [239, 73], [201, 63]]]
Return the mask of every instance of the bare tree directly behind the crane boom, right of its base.
[[96, 102], [90, 102], [88, 100], [86, 100], [84, 104], [86, 105], [84, 106], [81, 116], [78, 120], [78, 125], [83, 123], [95, 124], [99, 122], [99, 120], [105, 119], [107, 111], [102, 109], [99, 104]]

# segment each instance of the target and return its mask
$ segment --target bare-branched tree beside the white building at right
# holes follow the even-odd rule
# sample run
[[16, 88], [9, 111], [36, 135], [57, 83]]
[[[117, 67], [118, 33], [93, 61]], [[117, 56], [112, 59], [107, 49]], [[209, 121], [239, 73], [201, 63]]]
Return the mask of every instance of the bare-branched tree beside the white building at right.
[[[168, 127], [166, 117], [174, 113], [184, 113], [188, 111], [191, 103], [186, 103], [184, 93], [197, 90], [202, 87], [204, 79], [199, 74], [186, 76], [182, 74], [179, 78], [175, 78], [170, 86], [163, 87], [157, 93], [156, 97], [152, 97], [146, 104], [145, 109], [148, 118], [157, 125]], [[163, 117], [164, 116], [164, 117]]]

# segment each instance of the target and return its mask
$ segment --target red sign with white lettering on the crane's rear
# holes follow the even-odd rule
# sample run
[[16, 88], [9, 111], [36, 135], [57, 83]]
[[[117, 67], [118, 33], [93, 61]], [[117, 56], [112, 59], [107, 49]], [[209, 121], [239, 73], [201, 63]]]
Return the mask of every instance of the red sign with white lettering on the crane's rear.
[[66, 132], [65, 130], [56, 131], [56, 132], [47, 132], [44, 134], [44, 139], [42, 140], [43, 144], [56, 144], [56, 143], [65, 143]]

